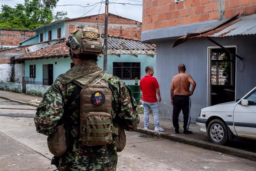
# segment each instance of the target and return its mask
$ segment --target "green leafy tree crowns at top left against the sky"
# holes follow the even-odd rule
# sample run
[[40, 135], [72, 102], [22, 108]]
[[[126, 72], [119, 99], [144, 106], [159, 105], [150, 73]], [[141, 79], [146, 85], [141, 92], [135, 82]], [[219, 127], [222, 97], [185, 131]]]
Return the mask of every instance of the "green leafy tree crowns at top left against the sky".
[[[2, 5], [0, 13], [0, 28], [32, 30], [52, 23], [53, 9], [59, 0], [25, 0], [15, 8]], [[57, 12], [58, 13], [58, 12]], [[67, 13], [60, 12], [59, 18], [65, 18]]]

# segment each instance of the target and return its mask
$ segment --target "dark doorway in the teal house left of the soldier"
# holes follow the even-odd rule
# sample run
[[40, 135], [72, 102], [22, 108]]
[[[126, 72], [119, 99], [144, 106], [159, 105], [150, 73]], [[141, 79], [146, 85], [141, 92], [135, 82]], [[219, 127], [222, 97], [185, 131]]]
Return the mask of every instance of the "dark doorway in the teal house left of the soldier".
[[43, 65], [43, 85], [51, 86], [53, 83], [53, 64]]

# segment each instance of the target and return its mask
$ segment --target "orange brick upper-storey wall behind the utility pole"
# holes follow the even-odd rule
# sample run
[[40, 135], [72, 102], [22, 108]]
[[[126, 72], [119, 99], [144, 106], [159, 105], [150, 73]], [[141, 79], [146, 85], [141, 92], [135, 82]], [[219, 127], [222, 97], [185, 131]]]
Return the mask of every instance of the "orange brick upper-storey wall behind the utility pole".
[[[92, 16], [92, 17], [85, 17], [82, 19], [73, 20], [74, 22], [81, 22], [81, 23], [92, 23], [88, 25], [88, 27], [98, 28], [102, 27], [102, 24], [105, 23], [105, 15], [101, 14], [99, 16]], [[98, 23], [98, 24], [97, 24]], [[120, 24], [120, 26], [116, 26], [116, 24]], [[130, 26], [125, 26], [130, 25]], [[115, 36], [122, 36], [122, 37], [129, 37], [129, 38], [138, 38], [141, 39], [141, 27], [142, 23], [138, 21], [133, 21], [129, 19], [124, 19], [122, 17], [113, 16], [111, 14], [108, 15], [108, 34], [115, 35]], [[69, 24], [69, 34], [78, 25]], [[101, 29], [104, 33], [104, 25]]]

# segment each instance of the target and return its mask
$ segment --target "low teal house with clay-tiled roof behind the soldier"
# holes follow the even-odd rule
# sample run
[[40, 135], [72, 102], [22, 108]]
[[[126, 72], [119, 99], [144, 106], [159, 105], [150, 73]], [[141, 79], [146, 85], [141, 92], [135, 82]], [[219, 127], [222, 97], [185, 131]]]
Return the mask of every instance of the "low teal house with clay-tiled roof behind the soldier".
[[[109, 36], [108, 73], [120, 77], [126, 84], [135, 83], [145, 75], [145, 67], [155, 67], [155, 45], [141, 43], [138, 39]], [[69, 48], [62, 41], [33, 53], [17, 57], [17, 63], [24, 63], [24, 77], [33, 79], [33, 84], [50, 86], [62, 73], [68, 71], [73, 62]], [[98, 57], [98, 65], [103, 68], [104, 60]]]

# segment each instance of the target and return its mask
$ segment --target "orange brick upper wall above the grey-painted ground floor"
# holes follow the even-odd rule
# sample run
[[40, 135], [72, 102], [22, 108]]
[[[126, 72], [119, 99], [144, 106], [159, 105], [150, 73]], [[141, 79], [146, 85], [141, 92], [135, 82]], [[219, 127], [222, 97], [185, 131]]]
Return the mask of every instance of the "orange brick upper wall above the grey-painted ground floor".
[[[256, 0], [223, 0], [225, 18], [256, 13]], [[219, 0], [143, 0], [142, 31], [217, 20]]]

